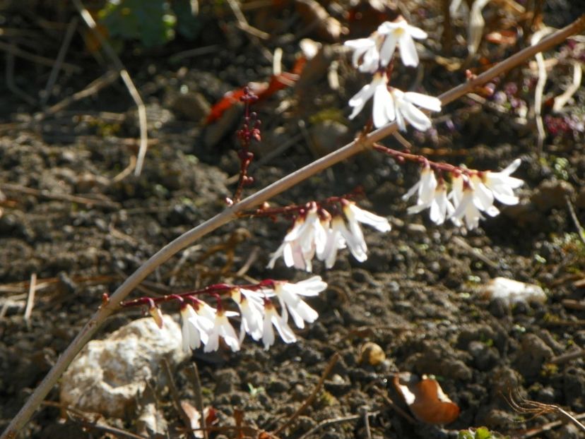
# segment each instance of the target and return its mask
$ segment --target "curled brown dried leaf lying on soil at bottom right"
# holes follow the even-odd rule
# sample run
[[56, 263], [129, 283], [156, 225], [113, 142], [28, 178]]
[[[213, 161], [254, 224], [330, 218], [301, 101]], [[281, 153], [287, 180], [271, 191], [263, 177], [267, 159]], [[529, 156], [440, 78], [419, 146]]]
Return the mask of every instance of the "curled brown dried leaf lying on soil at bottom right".
[[447, 424], [459, 416], [459, 406], [445, 395], [437, 380], [427, 378], [427, 375], [418, 380], [411, 373], [398, 373], [394, 376], [394, 387], [420, 421]]

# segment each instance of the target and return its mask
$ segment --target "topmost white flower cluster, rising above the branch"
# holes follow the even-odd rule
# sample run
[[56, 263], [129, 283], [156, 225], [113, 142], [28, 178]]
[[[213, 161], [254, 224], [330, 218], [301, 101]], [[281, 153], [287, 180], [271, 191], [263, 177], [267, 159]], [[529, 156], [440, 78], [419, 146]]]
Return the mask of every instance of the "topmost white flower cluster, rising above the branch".
[[406, 130], [405, 121], [420, 131], [431, 127], [428, 116], [417, 107], [440, 112], [441, 101], [436, 97], [402, 92], [389, 87], [387, 72], [396, 46], [406, 66], [418, 66], [418, 54], [413, 39], [423, 40], [426, 37], [426, 32], [409, 25], [403, 18], [398, 18], [394, 23], [382, 23], [368, 38], [345, 42], [345, 46], [353, 49], [353, 65], [361, 72], [374, 74], [372, 82], [350, 99], [350, 107], [353, 107], [350, 119], [357, 116], [373, 97], [372, 119], [375, 127], [379, 128], [392, 121], [396, 121], [402, 131]]

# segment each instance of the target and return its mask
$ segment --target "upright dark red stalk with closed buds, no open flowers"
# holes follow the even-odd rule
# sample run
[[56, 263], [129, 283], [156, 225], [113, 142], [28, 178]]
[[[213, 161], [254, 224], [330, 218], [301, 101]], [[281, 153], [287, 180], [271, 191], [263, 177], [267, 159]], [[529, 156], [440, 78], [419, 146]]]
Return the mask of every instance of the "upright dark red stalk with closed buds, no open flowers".
[[258, 100], [258, 96], [254, 95], [254, 92], [249, 88], [244, 88], [244, 95], [240, 97], [240, 100], [244, 102], [245, 108], [244, 125], [241, 130], [237, 131], [237, 137], [240, 139], [240, 145], [242, 145], [242, 149], [237, 152], [237, 157], [240, 158], [240, 179], [237, 181], [234, 198], [231, 200], [228, 198], [228, 205], [240, 201], [244, 186], [254, 183], [254, 178], [248, 175], [248, 168], [252, 160], [254, 160], [254, 153], [250, 151], [250, 145], [253, 139], [256, 142], [261, 140], [261, 122], [258, 120], [258, 115], [255, 112], [250, 112], [250, 106]]

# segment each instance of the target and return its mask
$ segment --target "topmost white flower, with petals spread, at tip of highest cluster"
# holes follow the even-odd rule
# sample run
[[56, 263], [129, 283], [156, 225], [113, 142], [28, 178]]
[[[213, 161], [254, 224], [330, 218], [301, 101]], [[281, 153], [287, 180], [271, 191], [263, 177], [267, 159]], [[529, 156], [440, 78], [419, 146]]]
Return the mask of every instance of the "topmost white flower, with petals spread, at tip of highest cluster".
[[378, 27], [378, 33], [386, 37], [379, 55], [383, 66], [388, 65], [392, 55], [394, 55], [396, 43], [398, 43], [403, 64], [405, 66], [418, 66], [418, 54], [413, 38], [424, 40], [427, 37], [427, 32], [409, 25], [402, 18], [394, 23], [389, 21], [382, 23]]

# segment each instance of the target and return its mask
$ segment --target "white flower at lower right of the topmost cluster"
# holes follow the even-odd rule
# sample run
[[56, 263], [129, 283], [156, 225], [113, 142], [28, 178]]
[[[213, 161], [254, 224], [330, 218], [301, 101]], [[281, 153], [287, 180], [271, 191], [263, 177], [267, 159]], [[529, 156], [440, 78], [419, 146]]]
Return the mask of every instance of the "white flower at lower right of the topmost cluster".
[[437, 97], [415, 92], [405, 93], [397, 88], [392, 88], [390, 94], [394, 98], [396, 122], [401, 131], [406, 131], [405, 120], [410, 122], [418, 131], [427, 131], [432, 126], [429, 117], [415, 105], [433, 112], [441, 111], [441, 101]]

